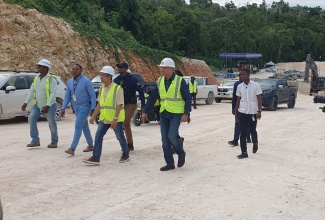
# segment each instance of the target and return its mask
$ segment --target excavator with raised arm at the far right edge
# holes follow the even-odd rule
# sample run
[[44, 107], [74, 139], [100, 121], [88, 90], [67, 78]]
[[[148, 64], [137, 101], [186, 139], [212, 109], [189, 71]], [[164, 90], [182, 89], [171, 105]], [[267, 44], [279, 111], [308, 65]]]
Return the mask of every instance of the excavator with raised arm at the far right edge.
[[305, 82], [308, 82], [310, 70], [312, 75], [310, 77], [309, 94], [313, 95], [315, 93], [317, 94], [319, 91], [325, 90], [325, 77], [318, 76], [318, 67], [310, 54], [308, 54], [306, 58]]

